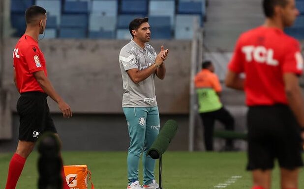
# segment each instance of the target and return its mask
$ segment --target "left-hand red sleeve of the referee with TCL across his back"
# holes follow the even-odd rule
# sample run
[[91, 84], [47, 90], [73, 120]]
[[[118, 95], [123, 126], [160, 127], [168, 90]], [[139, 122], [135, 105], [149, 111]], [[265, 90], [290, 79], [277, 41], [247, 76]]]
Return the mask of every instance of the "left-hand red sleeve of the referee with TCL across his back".
[[228, 64], [228, 69], [236, 73], [244, 72], [243, 56], [240, 37], [234, 49], [232, 58]]

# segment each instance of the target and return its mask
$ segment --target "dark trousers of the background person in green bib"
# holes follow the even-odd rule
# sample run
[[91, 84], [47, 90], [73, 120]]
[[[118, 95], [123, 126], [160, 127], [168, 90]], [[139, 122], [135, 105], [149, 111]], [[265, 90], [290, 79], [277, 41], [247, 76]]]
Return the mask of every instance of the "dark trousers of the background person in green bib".
[[[203, 130], [206, 150], [212, 151], [214, 121], [219, 120], [224, 125], [226, 130], [234, 130], [234, 118], [224, 107], [213, 112], [200, 113], [200, 116], [204, 125]], [[226, 147], [232, 148], [233, 140], [226, 140]]]

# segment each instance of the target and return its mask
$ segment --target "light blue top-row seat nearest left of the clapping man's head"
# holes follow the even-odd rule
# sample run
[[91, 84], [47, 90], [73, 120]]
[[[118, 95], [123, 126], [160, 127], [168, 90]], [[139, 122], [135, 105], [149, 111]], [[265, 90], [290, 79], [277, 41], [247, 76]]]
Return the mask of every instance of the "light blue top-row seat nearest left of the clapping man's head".
[[118, 12], [117, 0], [93, 0], [92, 14], [101, 14], [103, 16], [116, 17]]

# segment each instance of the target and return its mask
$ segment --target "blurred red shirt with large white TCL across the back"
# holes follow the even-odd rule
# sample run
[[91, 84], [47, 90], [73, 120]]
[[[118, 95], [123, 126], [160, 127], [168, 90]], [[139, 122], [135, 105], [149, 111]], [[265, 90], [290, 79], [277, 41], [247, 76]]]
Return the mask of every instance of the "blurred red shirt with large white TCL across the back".
[[246, 104], [287, 104], [284, 73], [302, 74], [299, 42], [282, 30], [260, 26], [241, 35], [229, 70], [245, 73]]

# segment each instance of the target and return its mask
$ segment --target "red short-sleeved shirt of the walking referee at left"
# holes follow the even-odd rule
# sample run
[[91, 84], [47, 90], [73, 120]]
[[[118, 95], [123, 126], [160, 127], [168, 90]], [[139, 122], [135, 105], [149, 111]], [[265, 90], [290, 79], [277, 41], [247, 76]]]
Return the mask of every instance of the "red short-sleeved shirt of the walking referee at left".
[[13, 59], [19, 92], [44, 92], [33, 75], [36, 71], [44, 71], [47, 76], [45, 59], [37, 41], [23, 35], [16, 44]]

